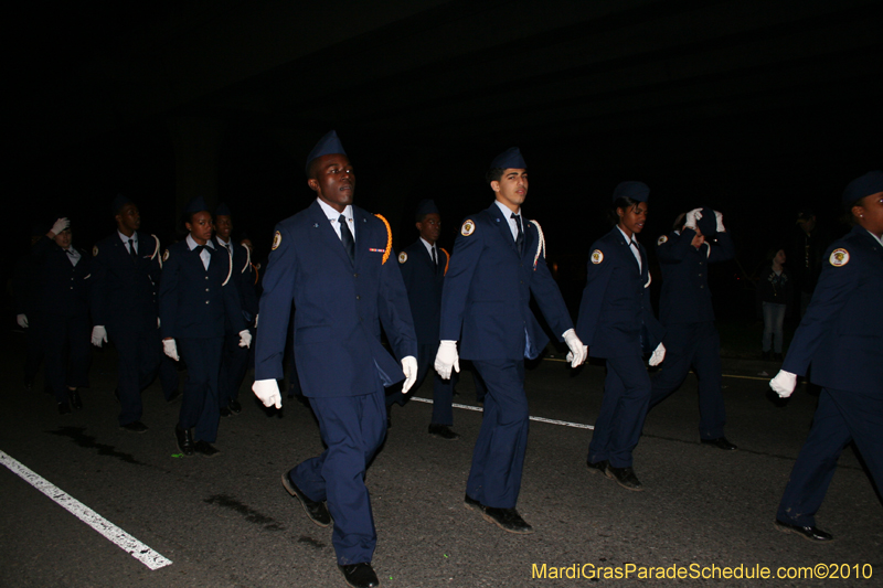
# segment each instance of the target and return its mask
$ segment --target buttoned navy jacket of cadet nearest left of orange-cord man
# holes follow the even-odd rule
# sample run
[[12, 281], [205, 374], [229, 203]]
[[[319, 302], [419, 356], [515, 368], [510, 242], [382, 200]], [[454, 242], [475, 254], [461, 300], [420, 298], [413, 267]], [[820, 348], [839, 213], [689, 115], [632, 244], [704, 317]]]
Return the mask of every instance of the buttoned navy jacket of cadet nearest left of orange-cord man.
[[[245, 329], [236, 286], [226, 249], [209, 247], [212, 260], [206, 271], [198, 249], [187, 240], [170, 246], [159, 286], [159, 318], [162, 338], [223, 338], [224, 325]], [[228, 321], [225, 323], [225, 318]]]

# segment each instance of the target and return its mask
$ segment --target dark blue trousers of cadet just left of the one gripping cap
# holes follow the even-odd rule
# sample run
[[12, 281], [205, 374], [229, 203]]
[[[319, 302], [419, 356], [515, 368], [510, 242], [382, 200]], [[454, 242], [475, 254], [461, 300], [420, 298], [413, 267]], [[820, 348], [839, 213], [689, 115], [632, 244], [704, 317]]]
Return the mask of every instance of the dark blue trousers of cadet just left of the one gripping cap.
[[598, 418], [588, 445], [588, 462], [609, 460], [614, 468], [631, 467], [631, 451], [638, 445], [650, 403], [650, 375], [640, 348], [628, 355], [607, 357]]

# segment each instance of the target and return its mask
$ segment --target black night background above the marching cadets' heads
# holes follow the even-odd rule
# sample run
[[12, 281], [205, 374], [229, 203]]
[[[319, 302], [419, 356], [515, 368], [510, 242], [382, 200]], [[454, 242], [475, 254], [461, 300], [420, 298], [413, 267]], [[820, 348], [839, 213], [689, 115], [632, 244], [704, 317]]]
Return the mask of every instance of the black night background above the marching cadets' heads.
[[396, 247], [432, 197], [449, 248], [518, 146], [572, 311], [614, 188], [641, 180], [649, 249], [679, 212], [724, 213], [719, 314], [753, 316], [797, 211], [838, 236], [843, 186], [883, 167], [881, 22], [861, 0], [30, 3], [7, 23], [3, 269], [62, 215], [89, 249], [118, 192], [166, 243], [187, 200], [226, 202], [264, 257], [334, 128]]

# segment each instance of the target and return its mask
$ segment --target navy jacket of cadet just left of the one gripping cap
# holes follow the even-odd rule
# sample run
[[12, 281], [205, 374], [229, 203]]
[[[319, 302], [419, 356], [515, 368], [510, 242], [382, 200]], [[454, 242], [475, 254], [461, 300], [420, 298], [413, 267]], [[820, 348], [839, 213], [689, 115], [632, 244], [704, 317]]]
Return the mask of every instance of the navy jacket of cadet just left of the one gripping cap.
[[640, 345], [647, 328], [645, 351], [653, 351], [666, 330], [650, 306], [650, 276], [647, 252], [638, 244], [641, 271], [626, 237], [614, 227], [592, 245], [576, 335], [593, 357], [615, 357]]

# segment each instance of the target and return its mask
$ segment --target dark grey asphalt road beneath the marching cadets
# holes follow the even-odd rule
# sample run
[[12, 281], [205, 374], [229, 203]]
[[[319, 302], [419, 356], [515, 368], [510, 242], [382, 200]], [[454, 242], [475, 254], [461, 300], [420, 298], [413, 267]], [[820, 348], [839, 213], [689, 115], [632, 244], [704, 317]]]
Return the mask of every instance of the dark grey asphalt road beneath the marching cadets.
[[[310, 523], [279, 482], [288, 468], [322, 450], [308, 408], [287, 400], [283, 414], [267, 415], [243, 386], [243, 413], [221, 423], [222, 453], [175, 457], [179, 404], [163, 400], [159, 383], [143, 393], [150, 430], [123, 431], [113, 396], [113, 349], [95, 353], [85, 408], [60, 416], [40, 378], [34, 392], [23, 391], [22, 343], [17, 333], [0, 341], [0, 451], [57, 488], [56, 495], [76, 499], [171, 564], [151, 570], [0, 467], [0, 586], [344, 586], [331, 531]], [[480, 411], [456, 409], [461, 438], [444, 441], [426, 432], [427, 403], [395, 407], [385, 447], [368, 472], [379, 535], [374, 567], [382, 585], [880, 586], [883, 507], [851, 449], [841, 457], [818, 515], [819, 526], [836, 541], [818, 545], [774, 530], [816, 397], [800, 387], [787, 406], [775, 406], [765, 396], [766, 383], [753, 378], [755, 366], [748, 367], [728, 365], [724, 378], [727, 437], [740, 450], [699, 445], [691, 375], [647, 419], [635, 452], [645, 492], [587, 471], [591, 430], [532, 423], [518, 504], [536, 530], [528, 536], [507, 534], [462, 506]], [[526, 377], [531, 414], [591, 425], [603, 378], [600, 366], [572, 371], [560, 361], [539, 362]], [[430, 391], [427, 383], [417, 395]], [[455, 402], [476, 405], [471, 378], [462, 378]], [[744, 577], [757, 566], [775, 576], [779, 567], [819, 564], [825, 569], [817, 573], [850, 577], [762, 582]], [[545, 578], [535, 577], [543, 565]], [[741, 579], [721, 578], [723, 568], [737, 566]], [[592, 579], [593, 569], [603, 567], [610, 574], [628, 570], [629, 578]], [[554, 579], [552, 568], [564, 578]], [[669, 575], [680, 569], [688, 577], [638, 579], [646, 568]], [[574, 569], [584, 576], [568, 579]], [[784, 570], [789, 571], [796, 573]], [[702, 578], [709, 574], [715, 577]], [[872, 577], [857, 579], [857, 574]]]

